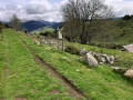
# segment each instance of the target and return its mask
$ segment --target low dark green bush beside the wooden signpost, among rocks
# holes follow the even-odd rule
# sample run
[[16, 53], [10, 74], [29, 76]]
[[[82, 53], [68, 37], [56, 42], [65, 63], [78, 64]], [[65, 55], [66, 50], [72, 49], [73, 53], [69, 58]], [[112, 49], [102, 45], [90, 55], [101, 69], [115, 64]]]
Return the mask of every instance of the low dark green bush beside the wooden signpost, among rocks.
[[65, 47], [65, 52], [69, 52], [71, 54], [78, 54], [80, 56], [80, 49], [78, 49], [75, 46], [71, 44], [71, 46], [66, 46]]

